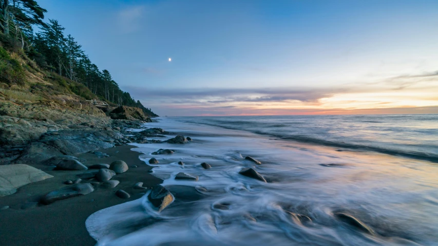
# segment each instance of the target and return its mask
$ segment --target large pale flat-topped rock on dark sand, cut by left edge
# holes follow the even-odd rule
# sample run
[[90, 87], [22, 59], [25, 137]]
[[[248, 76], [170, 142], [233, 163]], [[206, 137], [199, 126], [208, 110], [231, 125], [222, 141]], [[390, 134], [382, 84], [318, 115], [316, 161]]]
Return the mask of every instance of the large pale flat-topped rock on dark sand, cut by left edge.
[[51, 177], [53, 176], [24, 164], [0, 166], [0, 197], [15, 193], [28, 183]]

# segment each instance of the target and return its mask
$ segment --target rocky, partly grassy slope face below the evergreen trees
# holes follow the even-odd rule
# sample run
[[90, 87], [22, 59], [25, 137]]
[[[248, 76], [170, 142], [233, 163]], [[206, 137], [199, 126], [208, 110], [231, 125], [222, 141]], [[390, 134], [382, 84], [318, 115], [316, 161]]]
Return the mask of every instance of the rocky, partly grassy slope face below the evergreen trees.
[[86, 86], [0, 46], [0, 165], [113, 147], [125, 139], [119, 126], [150, 121], [126, 106], [111, 119], [87, 101], [94, 98]]

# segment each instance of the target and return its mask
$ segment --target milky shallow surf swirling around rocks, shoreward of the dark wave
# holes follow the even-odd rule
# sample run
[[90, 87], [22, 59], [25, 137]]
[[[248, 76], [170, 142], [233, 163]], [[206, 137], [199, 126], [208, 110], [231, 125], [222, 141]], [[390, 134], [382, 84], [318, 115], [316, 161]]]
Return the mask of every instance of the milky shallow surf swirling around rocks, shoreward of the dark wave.
[[[94, 213], [86, 226], [99, 245], [438, 245], [434, 162], [340, 152], [339, 147], [184, 121], [162, 118], [147, 127], [190, 136], [193, 142], [135, 149], [146, 162], [160, 161], [151, 165], [153, 175], [164, 179], [175, 201], [157, 213], [146, 193]], [[175, 153], [151, 155], [161, 148]], [[212, 168], [203, 169], [202, 162]], [[238, 174], [247, 167], [268, 182]], [[175, 180], [179, 172], [199, 181]], [[336, 213], [354, 216], [369, 231]]]

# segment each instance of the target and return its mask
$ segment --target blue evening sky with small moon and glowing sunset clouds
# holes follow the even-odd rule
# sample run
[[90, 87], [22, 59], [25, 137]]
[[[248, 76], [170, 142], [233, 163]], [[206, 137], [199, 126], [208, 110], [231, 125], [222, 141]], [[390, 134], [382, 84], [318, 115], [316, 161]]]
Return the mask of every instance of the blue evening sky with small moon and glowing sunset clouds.
[[436, 0], [37, 2], [160, 116], [438, 113]]

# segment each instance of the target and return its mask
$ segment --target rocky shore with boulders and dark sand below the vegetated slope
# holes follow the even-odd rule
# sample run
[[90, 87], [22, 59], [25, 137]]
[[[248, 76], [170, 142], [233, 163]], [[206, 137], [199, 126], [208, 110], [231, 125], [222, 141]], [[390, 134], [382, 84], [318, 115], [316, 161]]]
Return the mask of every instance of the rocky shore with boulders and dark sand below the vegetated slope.
[[[90, 214], [162, 182], [129, 144], [187, 142], [148, 139], [170, 133], [148, 129], [151, 119], [125, 106], [105, 113], [6, 104], [0, 111], [0, 245], [94, 245], [85, 229]], [[150, 200], [161, 210], [170, 197], [156, 187]]]

